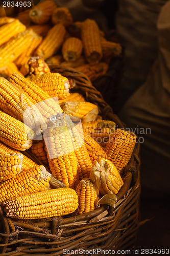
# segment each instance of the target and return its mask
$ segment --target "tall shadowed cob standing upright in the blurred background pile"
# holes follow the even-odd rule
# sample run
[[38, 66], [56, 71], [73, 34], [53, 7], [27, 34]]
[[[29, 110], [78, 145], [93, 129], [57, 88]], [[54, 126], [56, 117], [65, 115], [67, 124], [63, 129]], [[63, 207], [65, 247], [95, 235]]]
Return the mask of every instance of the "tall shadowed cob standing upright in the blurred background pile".
[[102, 58], [100, 31], [96, 22], [86, 19], [82, 24], [81, 38], [84, 54], [89, 63], [98, 63]]

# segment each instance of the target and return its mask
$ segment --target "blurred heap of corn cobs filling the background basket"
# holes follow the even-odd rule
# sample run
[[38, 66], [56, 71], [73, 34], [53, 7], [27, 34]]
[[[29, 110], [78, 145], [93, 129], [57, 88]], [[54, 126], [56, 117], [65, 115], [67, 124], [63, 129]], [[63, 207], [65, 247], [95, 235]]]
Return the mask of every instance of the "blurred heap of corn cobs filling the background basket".
[[[0, 16], [0, 32], [0, 74], [5, 78], [13, 72], [26, 76], [29, 58], [40, 56], [47, 63], [75, 68], [94, 81], [107, 72], [111, 58], [122, 53], [116, 39], [107, 40], [94, 20], [75, 22], [68, 9], [52, 0], [15, 18]], [[41, 71], [40, 66], [36, 72]]]

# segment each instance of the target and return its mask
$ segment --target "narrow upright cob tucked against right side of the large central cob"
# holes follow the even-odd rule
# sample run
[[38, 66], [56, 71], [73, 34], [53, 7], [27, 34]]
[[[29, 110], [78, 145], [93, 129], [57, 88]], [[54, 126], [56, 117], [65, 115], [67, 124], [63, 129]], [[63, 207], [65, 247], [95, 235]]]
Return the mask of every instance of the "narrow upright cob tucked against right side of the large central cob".
[[66, 120], [66, 127], [72, 139], [74, 151], [78, 162], [78, 175], [79, 180], [88, 178], [92, 168], [92, 162], [90, 160], [87, 148], [84, 142], [84, 135], [81, 122], [76, 126], [70, 120], [70, 117], [64, 114]]

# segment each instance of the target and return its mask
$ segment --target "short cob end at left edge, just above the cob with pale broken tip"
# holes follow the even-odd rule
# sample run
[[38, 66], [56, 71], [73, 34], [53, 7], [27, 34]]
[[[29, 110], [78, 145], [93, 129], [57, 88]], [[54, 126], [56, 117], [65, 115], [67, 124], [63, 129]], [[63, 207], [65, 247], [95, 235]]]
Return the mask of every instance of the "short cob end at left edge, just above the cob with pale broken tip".
[[0, 155], [0, 182], [11, 179], [22, 170], [23, 156], [19, 153]]

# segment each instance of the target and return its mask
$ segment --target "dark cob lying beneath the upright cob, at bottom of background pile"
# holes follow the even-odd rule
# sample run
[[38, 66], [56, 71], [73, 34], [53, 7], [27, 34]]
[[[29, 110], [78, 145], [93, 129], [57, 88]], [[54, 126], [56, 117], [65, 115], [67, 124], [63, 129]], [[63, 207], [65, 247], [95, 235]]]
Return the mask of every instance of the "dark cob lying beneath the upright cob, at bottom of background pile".
[[83, 66], [77, 67], [76, 70], [84, 73], [91, 81], [103, 76], [106, 74], [109, 68], [108, 63], [99, 62], [93, 65], [85, 64]]

